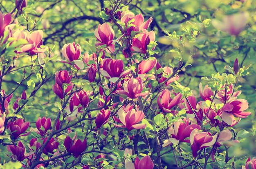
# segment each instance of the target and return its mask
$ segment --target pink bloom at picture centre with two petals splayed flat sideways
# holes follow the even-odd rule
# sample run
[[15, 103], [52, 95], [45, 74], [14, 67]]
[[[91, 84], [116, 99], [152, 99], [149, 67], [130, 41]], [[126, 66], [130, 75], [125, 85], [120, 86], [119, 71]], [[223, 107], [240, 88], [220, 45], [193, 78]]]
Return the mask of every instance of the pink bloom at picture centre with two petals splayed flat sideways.
[[124, 82], [124, 90], [117, 90], [117, 94], [126, 95], [130, 99], [137, 99], [137, 97], [144, 97], [148, 93], [141, 93], [143, 90], [143, 83], [141, 77], [131, 77], [128, 81]]

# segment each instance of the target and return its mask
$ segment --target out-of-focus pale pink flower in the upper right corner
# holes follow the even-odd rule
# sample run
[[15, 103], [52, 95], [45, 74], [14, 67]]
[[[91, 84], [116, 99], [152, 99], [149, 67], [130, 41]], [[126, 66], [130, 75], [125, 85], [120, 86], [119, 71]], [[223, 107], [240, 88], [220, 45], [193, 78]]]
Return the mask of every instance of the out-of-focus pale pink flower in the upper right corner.
[[222, 22], [213, 20], [212, 24], [217, 29], [227, 32], [230, 35], [239, 35], [241, 31], [245, 29], [249, 15], [246, 12], [236, 13], [233, 15], [225, 15], [222, 18]]

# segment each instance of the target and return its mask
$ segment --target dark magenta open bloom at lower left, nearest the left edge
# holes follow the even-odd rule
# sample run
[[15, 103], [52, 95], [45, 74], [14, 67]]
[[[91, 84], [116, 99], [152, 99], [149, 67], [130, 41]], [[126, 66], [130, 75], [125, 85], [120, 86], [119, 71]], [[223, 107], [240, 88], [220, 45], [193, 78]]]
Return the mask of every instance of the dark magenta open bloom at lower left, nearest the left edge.
[[[27, 136], [30, 132], [26, 132], [26, 130], [29, 128], [30, 123], [24, 122], [24, 119], [17, 119], [16, 121], [12, 121], [7, 125], [9, 130], [11, 131], [11, 136], [13, 139], [17, 139], [21, 136]], [[22, 134], [25, 133], [25, 134]]]

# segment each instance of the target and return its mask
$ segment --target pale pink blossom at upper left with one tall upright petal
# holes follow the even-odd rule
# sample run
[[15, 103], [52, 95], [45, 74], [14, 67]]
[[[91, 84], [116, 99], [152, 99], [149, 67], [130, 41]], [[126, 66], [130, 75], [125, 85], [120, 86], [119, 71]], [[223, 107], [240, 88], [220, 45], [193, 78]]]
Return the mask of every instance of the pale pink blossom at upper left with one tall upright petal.
[[31, 34], [28, 34], [27, 41], [29, 43], [25, 44], [20, 48], [21, 52], [29, 52], [30, 55], [35, 55], [36, 53], [44, 52], [44, 50], [40, 48], [40, 45], [43, 44], [42, 40], [43, 40], [42, 30], [34, 31]]

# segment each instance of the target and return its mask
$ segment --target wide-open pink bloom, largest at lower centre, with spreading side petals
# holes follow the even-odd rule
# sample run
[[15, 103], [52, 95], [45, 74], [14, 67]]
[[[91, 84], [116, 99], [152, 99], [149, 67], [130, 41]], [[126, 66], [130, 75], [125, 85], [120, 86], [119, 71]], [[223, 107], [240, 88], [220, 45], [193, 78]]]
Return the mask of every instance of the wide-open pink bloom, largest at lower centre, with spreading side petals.
[[144, 129], [146, 127], [146, 124], [140, 123], [144, 119], [144, 113], [142, 111], [137, 111], [135, 109], [129, 110], [131, 107], [128, 108], [128, 110], [124, 107], [120, 108], [119, 111], [117, 112], [118, 117], [113, 116], [113, 119], [121, 123], [121, 125], [115, 125], [115, 127], [122, 127], [122, 128], [127, 128], [128, 131], [132, 129]]

